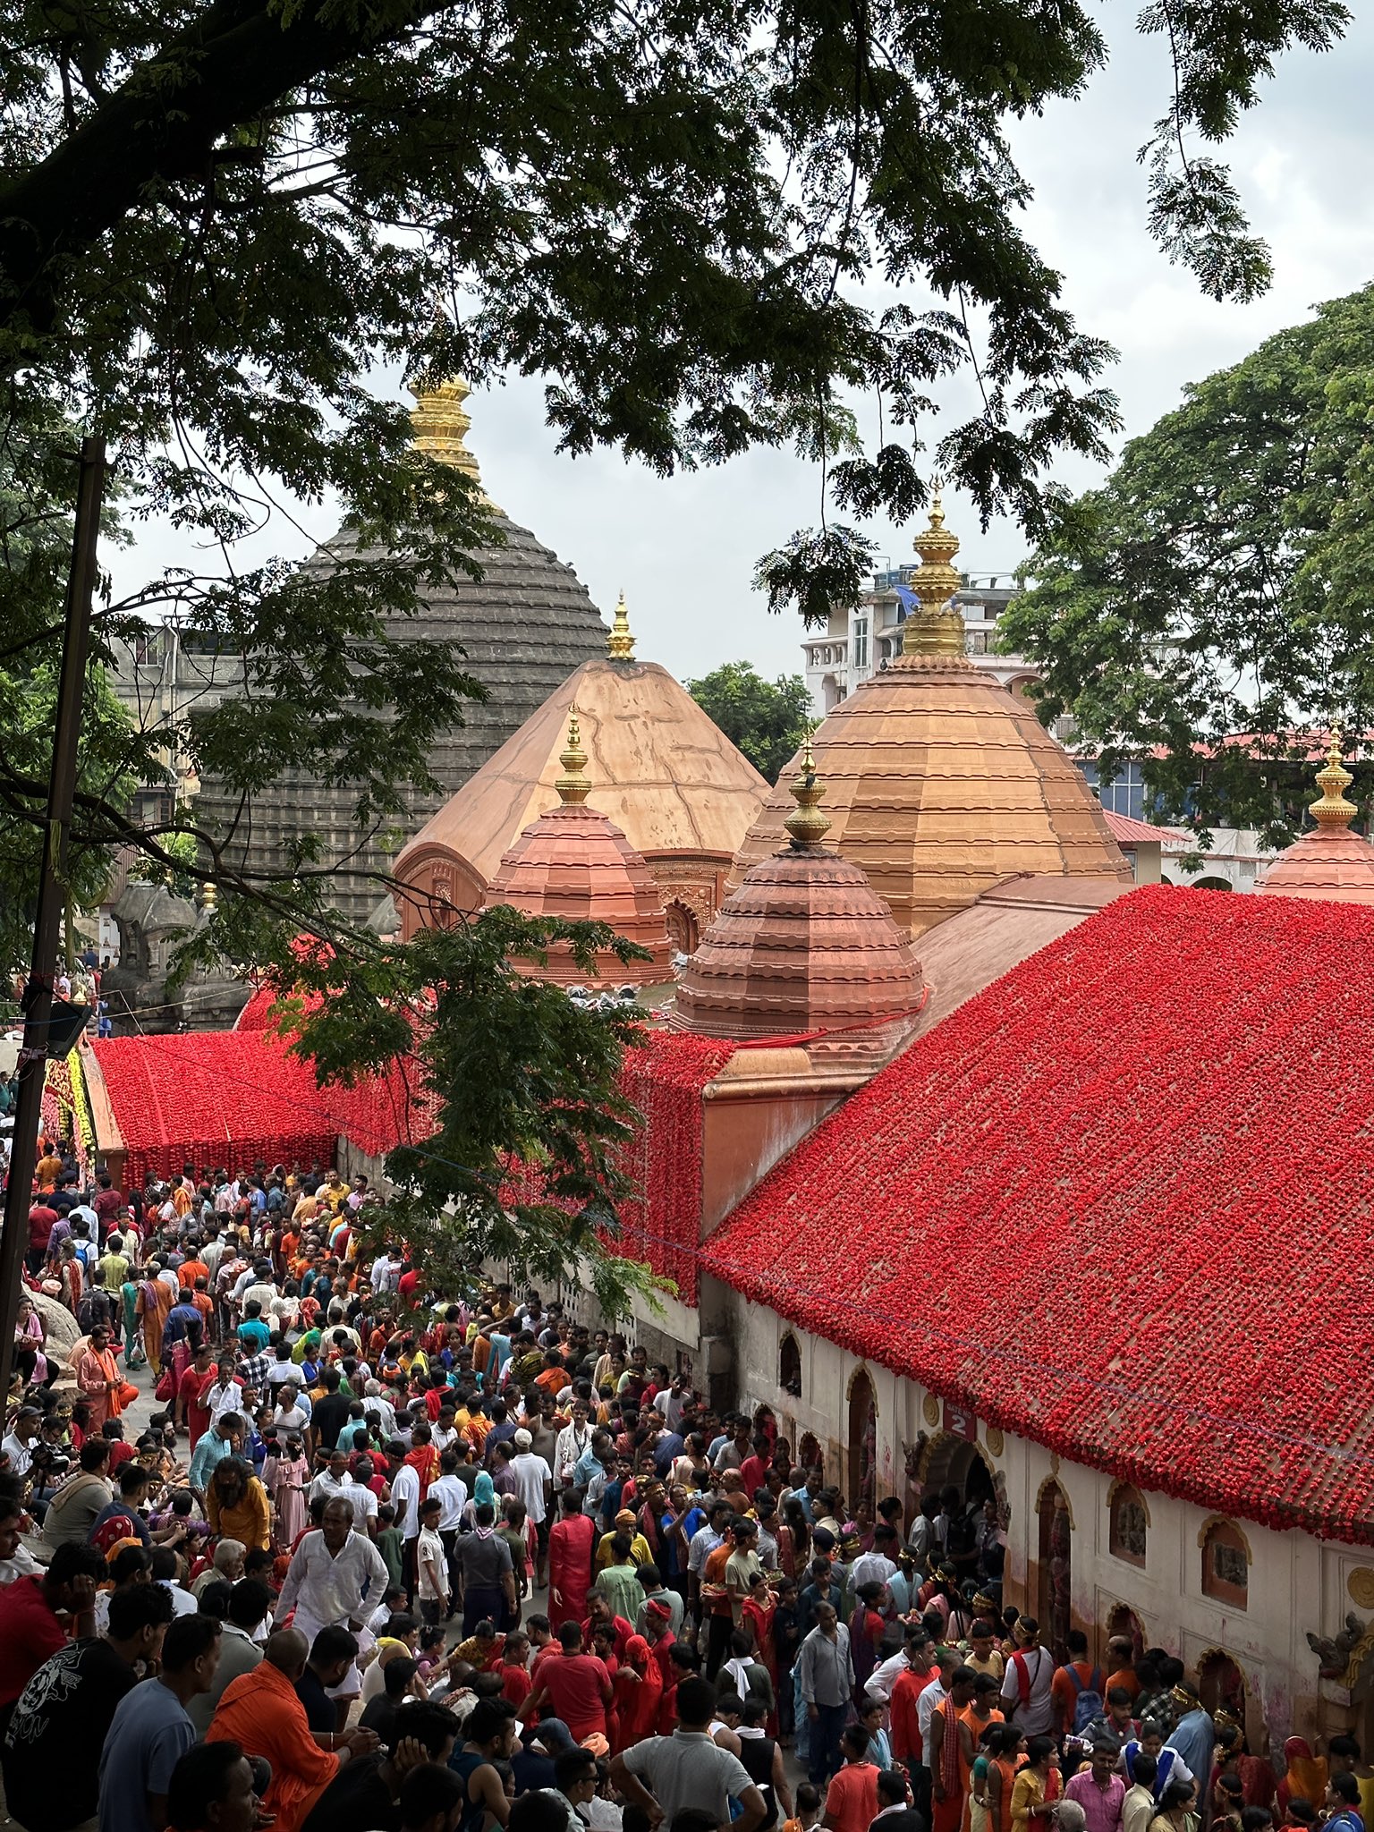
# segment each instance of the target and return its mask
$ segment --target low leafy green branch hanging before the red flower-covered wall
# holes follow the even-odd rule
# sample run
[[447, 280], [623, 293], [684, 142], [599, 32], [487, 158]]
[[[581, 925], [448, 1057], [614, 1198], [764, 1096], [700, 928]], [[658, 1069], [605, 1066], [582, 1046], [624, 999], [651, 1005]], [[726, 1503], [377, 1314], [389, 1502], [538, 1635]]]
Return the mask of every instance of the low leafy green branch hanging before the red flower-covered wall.
[[[385, 1237], [405, 1238], [431, 1288], [474, 1288], [484, 1264], [548, 1284], [588, 1282], [608, 1315], [628, 1314], [654, 1279], [606, 1253], [628, 1193], [616, 1147], [636, 1110], [619, 1088], [623, 1052], [641, 1037], [634, 1008], [588, 1011], [520, 969], [564, 947], [584, 973], [599, 949], [627, 971], [643, 949], [601, 923], [531, 921], [506, 905], [427, 929], [370, 958], [299, 954], [277, 1022], [322, 1085], [392, 1070], [429, 1096], [432, 1127], [387, 1158], [396, 1185]], [[513, 1161], [539, 1187], [513, 1183]]]

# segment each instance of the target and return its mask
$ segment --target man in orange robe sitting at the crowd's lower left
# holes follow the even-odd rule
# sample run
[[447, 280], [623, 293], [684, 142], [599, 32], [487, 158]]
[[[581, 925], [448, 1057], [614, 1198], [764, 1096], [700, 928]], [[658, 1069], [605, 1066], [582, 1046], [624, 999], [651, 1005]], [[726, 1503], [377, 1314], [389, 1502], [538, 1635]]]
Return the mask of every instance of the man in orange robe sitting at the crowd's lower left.
[[267, 1636], [262, 1662], [225, 1687], [205, 1742], [236, 1742], [245, 1755], [271, 1764], [271, 1786], [262, 1797], [275, 1814], [273, 1832], [299, 1832], [321, 1794], [355, 1755], [377, 1748], [370, 1729], [350, 1729], [317, 1740], [295, 1682], [306, 1671], [310, 1641], [299, 1629]]

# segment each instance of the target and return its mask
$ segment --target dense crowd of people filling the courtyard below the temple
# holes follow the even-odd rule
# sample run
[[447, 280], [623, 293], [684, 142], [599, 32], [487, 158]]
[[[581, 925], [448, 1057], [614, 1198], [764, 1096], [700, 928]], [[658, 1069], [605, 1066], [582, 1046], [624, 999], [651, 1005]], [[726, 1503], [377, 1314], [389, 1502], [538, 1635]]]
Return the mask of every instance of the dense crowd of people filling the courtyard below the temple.
[[1352, 1739], [1279, 1775], [1169, 1652], [1046, 1647], [993, 1504], [846, 1506], [768, 1407], [716, 1414], [535, 1292], [425, 1290], [385, 1220], [335, 1169], [125, 1194], [44, 1150], [0, 1449], [11, 1823], [1365, 1832]]

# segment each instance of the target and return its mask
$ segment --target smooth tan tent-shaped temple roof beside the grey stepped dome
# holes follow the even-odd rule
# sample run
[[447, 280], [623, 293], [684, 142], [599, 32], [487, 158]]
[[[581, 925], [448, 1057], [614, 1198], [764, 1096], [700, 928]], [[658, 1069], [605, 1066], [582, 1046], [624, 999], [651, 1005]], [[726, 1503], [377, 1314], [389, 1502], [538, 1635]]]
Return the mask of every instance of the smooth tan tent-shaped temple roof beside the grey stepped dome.
[[634, 660], [623, 601], [601, 647], [405, 846], [394, 876], [407, 938], [436, 901], [480, 907], [506, 848], [553, 799], [575, 705], [597, 804], [647, 859], [678, 945], [696, 945], [768, 784], [667, 669]]

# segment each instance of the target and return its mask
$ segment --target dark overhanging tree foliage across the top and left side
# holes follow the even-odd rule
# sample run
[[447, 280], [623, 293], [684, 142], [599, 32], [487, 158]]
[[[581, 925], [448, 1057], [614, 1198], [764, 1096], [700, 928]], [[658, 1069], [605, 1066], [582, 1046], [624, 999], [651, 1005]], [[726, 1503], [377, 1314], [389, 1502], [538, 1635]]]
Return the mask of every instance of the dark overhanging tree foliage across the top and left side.
[[[1246, 295], [1262, 264], [1189, 137], [1224, 139], [1275, 55], [1325, 48], [1345, 16], [1161, 0], [1143, 18], [1176, 73], [1156, 233], [1213, 291]], [[1039, 531], [1055, 460], [1101, 454], [1116, 425], [1110, 352], [1022, 233], [1004, 132], [1101, 64], [1075, 0], [9, 0], [0, 55], [0, 718], [13, 731], [55, 672], [71, 429], [99, 432], [125, 526], [169, 518], [200, 559], [106, 594], [95, 667], [170, 616], [233, 658], [236, 687], [170, 731], [93, 718], [75, 848], [169, 868], [185, 861], [167, 841], [194, 832], [231, 958], [286, 971], [310, 929], [379, 997], [409, 971], [344, 932], [343, 861], [317, 834], [288, 834], [269, 870], [236, 846], [299, 769], [350, 786], [359, 832], [388, 826], [478, 691], [451, 647], [394, 639], [498, 531], [412, 451], [379, 365], [539, 374], [564, 451], [616, 445], [660, 473], [790, 445], [850, 517], [909, 518], [938, 469]], [[927, 454], [960, 370], [980, 405]], [[854, 396], [879, 409], [876, 451]], [[330, 564], [244, 557], [282, 498], [341, 502]], [[824, 526], [779, 531], [773, 561], [771, 603], [808, 616], [867, 566], [861, 537]], [[40, 735], [37, 718], [33, 744], [0, 747], [7, 834], [29, 841], [0, 861], [11, 912], [42, 834]], [[224, 826], [187, 826], [185, 771], [229, 788]], [[132, 812], [132, 780], [165, 786], [165, 821]], [[463, 986], [489, 991], [456, 980], [443, 1026]], [[553, 1015], [524, 1020], [539, 1057]], [[443, 1086], [456, 1161], [469, 1070]], [[495, 1041], [491, 1072], [513, 1085]]]

